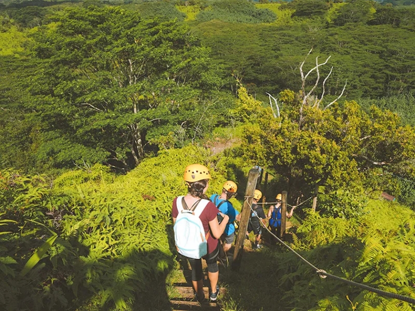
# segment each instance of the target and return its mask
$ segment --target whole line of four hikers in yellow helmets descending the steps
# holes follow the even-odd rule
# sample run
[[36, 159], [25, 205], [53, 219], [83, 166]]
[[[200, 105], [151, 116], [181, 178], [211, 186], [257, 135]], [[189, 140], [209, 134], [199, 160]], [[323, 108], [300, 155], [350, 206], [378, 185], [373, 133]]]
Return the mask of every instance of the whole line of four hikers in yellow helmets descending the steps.
[[[183, 179], [187, 185], [187, 194], [177, 196], [173, 199], [171, 217], [173, 219], [173, 231], [176, 249], [179, 254], [188, 260], [192, 268], [192, 286], [195, 299], [202, 303], [206, 300], [203, 292], [203, 269], [202, 258], [207, 264], [207, 276], [210, 283], [209, 300], [217, 300], [219, 294], [219, 254], [226, 256], [226, 252], [232, 247], [235, 240], [235, 221], [241, 220], [241, 214], [229, 201], [236, 196], [238, 186], [235, 182], [228, 180], [222, 187], [221, 194], [213, 194], [210, 199], [206, 192], [209, 186], [210, 173], [206, 166], [191, 164], [185, 168]], [[247, 238], [253, 231], [255, 243], [253, 249], [262, 247], [261, 224], [266, 226], [266, 219], [270, 218], [273, 225], [281, 226], [281, 194], [280, 202], [271, 206], [273, 211], [268, 211], [265, 216], [261, 205], [257, 204], [262, 197], [259, 190], [255, 190], [252, 198], [251, 213], [248, 224]], [[279, 204], [279, 205], [278, 205]], [[292, 209], [293, 210], [293, 209]], [[292, 215], [291, 210], [291, 215]], [[279, 222], [278, 222], [279, 217]], [[289, 216], [290, 217], [290, 216]], [[274, 229], [272, 229], [274, 228]], [[274, 232], [278, 226], [272, 227]], [[223, 256], [221, 255], [221, 257]]]

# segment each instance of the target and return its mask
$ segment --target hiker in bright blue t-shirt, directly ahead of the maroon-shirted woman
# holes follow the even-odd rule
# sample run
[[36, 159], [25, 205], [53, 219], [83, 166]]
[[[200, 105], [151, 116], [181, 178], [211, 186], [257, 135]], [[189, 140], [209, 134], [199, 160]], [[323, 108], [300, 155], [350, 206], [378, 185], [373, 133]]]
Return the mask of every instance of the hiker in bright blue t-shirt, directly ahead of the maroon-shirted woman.
[[[222, 188], [222, 194], [213, 194], [210, 196], [210, 200], [216, 205], [219, 211], [229, 216], [229, 221], [226, 225], [225, 232], [222, 234], [221, 240], [223, 241], [223, 250], [227, 252], [231, 249], [232, 243], [235, 239], [235, 219], [241, 220], [241, 214], [233, 207], [229, 199], [236, 195], [238, 186], [231, 180], [228, 180]], [[221, 221], [221, 217], [218, 220]]]

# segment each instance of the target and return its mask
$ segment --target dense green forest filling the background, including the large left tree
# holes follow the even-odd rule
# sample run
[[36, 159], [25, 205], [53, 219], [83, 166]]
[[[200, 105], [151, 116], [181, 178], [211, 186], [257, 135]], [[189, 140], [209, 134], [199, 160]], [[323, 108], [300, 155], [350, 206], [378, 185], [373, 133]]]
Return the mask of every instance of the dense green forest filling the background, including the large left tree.
[[[234, 77], [263, 101], [265, 92], [299, 90], [298, 64], [311, 46], [310, 57], [331, 56], [327, 98], [347, 80], [341, 100], [382, 98], [381, 108], [401, 107], [413, 124], [412, 8], [357, 0], [179, 4], [3, 6], [0, 53], [14, 57], [0, 60], [1, 165], [43, 172], [101, 162], [128, 171], [160, 148], [240, 121], [229, 115]], [[362, 20], [339, 22], [362, 5]], [[188, 26], [179, 22], [184, 12]]]

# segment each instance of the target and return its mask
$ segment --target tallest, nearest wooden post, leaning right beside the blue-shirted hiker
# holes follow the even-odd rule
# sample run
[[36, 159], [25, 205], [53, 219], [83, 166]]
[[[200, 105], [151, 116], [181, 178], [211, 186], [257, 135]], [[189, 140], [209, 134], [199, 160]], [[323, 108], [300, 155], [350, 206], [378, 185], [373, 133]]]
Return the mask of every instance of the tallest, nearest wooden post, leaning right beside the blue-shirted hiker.
[[245, 235], [248, 229], [249, 216], [251, 214], [250, 206], [252, 205], [253, 193], [255, 191], [258, 175], [259, 170], [257, 168], [252, 168], [249, 170], [248, 185], [245, 191], [245, 200], [244, 205], [242, 205], [241, 221], [239, 223], [239, 232], [235, 242], [235, 252], [232, 261], [232, 270], [238, 271], [241, 267]]

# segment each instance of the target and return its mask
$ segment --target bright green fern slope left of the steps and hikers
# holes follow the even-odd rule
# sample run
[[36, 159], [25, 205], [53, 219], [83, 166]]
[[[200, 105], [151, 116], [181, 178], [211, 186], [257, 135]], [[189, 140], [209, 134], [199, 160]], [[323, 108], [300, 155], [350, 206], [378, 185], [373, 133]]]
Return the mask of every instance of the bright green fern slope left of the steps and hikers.
[[217, 192], [229, 163], [194, 147], [118, 177], [102, 165], [53, 181], [2, 171], [1, 309], [155, 310], [173, 268], [171, 202], [186, 191], [182, 171], [193, 162], [217, 167], [209, 190]]

